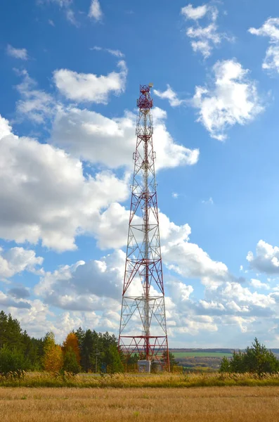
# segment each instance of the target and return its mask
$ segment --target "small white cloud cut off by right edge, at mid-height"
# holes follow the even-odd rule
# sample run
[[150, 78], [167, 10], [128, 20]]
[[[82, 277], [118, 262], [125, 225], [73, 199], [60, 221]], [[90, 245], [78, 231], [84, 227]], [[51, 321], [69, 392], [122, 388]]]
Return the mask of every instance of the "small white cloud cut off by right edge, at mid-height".
[[247, 261], [252, 269], [266, 274], [279, 273], [279, 248], [264, 241], [259, 241], [256, 247], [256, 255], [248, 252]]

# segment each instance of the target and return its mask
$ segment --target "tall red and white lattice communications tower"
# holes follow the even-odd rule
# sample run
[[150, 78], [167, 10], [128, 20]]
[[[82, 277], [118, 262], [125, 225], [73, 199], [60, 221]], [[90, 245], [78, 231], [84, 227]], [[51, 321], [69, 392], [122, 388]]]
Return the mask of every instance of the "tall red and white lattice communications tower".
[[150, 109], [153, 84], [140, 86], [136, 152], [122, 293], [119, 349], [169, 371], [164, 283]]

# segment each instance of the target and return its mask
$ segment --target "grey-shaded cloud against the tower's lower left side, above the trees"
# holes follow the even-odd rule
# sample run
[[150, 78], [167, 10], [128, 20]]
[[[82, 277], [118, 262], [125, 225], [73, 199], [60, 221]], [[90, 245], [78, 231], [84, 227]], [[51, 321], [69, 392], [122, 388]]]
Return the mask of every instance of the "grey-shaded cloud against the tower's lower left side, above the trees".
[[115, 250], [100, 260], [79, 261], [46, 273], [34, 288], [48, 305], [74, 311], [118, 310], [126, 255]]

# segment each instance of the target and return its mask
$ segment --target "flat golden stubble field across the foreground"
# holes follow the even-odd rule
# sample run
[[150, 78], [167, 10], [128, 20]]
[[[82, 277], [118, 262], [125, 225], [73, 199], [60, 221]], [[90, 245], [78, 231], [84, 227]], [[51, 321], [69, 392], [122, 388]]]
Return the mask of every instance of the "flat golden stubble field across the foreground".
[[1, 422], [265, 422], [278, 387], [0, 388]]

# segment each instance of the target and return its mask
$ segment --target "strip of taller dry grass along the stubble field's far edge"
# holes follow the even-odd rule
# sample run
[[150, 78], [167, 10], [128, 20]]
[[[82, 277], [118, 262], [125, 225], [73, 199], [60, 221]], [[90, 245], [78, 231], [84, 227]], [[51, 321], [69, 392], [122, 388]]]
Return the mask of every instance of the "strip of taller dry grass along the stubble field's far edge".
[[27, 373], [23, 378], [0, 376], [0, 387], [50, 387], [50, 388], [192, 388], [224, 386], [277, 386], [279, 373], [257, 376], [255, 373], [161, 373], [156, 374], [115, 374], [94, 376], [81, 374], [71, 376], [51, 373]]

